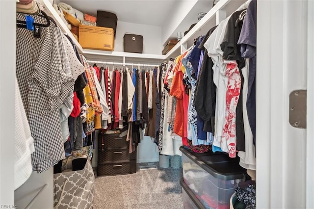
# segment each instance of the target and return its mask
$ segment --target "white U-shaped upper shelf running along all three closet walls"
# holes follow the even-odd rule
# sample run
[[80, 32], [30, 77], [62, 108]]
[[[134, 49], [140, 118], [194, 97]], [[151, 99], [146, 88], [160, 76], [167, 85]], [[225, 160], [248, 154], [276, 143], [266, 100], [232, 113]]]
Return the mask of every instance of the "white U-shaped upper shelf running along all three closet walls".
[[[78, 51], [83, 53], [88, 57], [98, 57], [103, 59], [105, 57], [110, 57], [113, 59], [123, 59], [123, 62], [126, 62], [127, 59], [138, 60], [140, 62], [161, 62], [168, 58], [175, 58], [182, 53], [183, 50], [186, 50], [193, 45], [193, 40], [208, 32], [208, 30], [219, 24], [222, 19], [225, 19], [227, 16], [235, 12], [241, 5], [243, 5], [246, 0], [219, 0], [215, 6], [213, 6], [209, 12], [181, 39], [181, 41], [176, 44], [176, 46], [171, 49], [166, 55], [161, 54], [145, 54], [145, 53], [130, 53], [130, 52], [109, 52], [101, 50], [88, 50], [83, 49], [78, 41], [74, 38], [69, 28], [61, 20], [57, 12], [54, 10], [50, 0], [38, 0], [41, 5], [45, 8], [45, 11], [50, 15], [57, 25], [68, 34], [74, 43], [76, 44]], [[193, 12], [194, 13], [194, 12]]]

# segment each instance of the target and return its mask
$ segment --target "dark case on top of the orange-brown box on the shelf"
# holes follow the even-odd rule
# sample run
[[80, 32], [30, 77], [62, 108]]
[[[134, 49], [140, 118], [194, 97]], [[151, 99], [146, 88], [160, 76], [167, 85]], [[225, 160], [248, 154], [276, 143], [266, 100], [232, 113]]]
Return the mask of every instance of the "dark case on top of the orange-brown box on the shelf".
[[96, 25], [100, 27], [113, 28], [114, 39], [116, 39], [117, 22], [118, 22], [117, 15], [111, 12], [99, 11], [99, 10], [97, 11]]

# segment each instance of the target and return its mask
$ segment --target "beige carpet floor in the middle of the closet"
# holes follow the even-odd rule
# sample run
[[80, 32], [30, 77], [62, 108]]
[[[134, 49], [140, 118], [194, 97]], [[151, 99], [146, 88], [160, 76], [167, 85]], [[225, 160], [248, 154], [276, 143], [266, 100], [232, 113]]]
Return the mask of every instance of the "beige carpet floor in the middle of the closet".
[[158, 167], [96, 177], [94, 209], [183, 209], [182, 175], [182, 169]]

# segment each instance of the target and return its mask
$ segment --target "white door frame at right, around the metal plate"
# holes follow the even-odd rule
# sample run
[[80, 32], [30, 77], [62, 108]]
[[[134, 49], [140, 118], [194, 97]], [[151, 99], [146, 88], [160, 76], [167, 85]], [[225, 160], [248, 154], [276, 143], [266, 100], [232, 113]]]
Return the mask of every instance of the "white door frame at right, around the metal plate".
[[[257, 208], [314, 208], [313, 11], [312, 0], [258, 1]], [[297, 129], [289, 94], [308, 87], [308, 129]]]

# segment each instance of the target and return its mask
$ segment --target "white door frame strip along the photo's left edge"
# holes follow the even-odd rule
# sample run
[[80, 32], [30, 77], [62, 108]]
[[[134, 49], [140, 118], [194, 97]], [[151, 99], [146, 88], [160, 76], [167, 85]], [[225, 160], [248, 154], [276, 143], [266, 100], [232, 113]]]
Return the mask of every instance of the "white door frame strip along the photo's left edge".
[[[0, 0], [0, 206], [14, 205], [16, 1]], [[5, 28], [5, 29], [4, 29]]]

